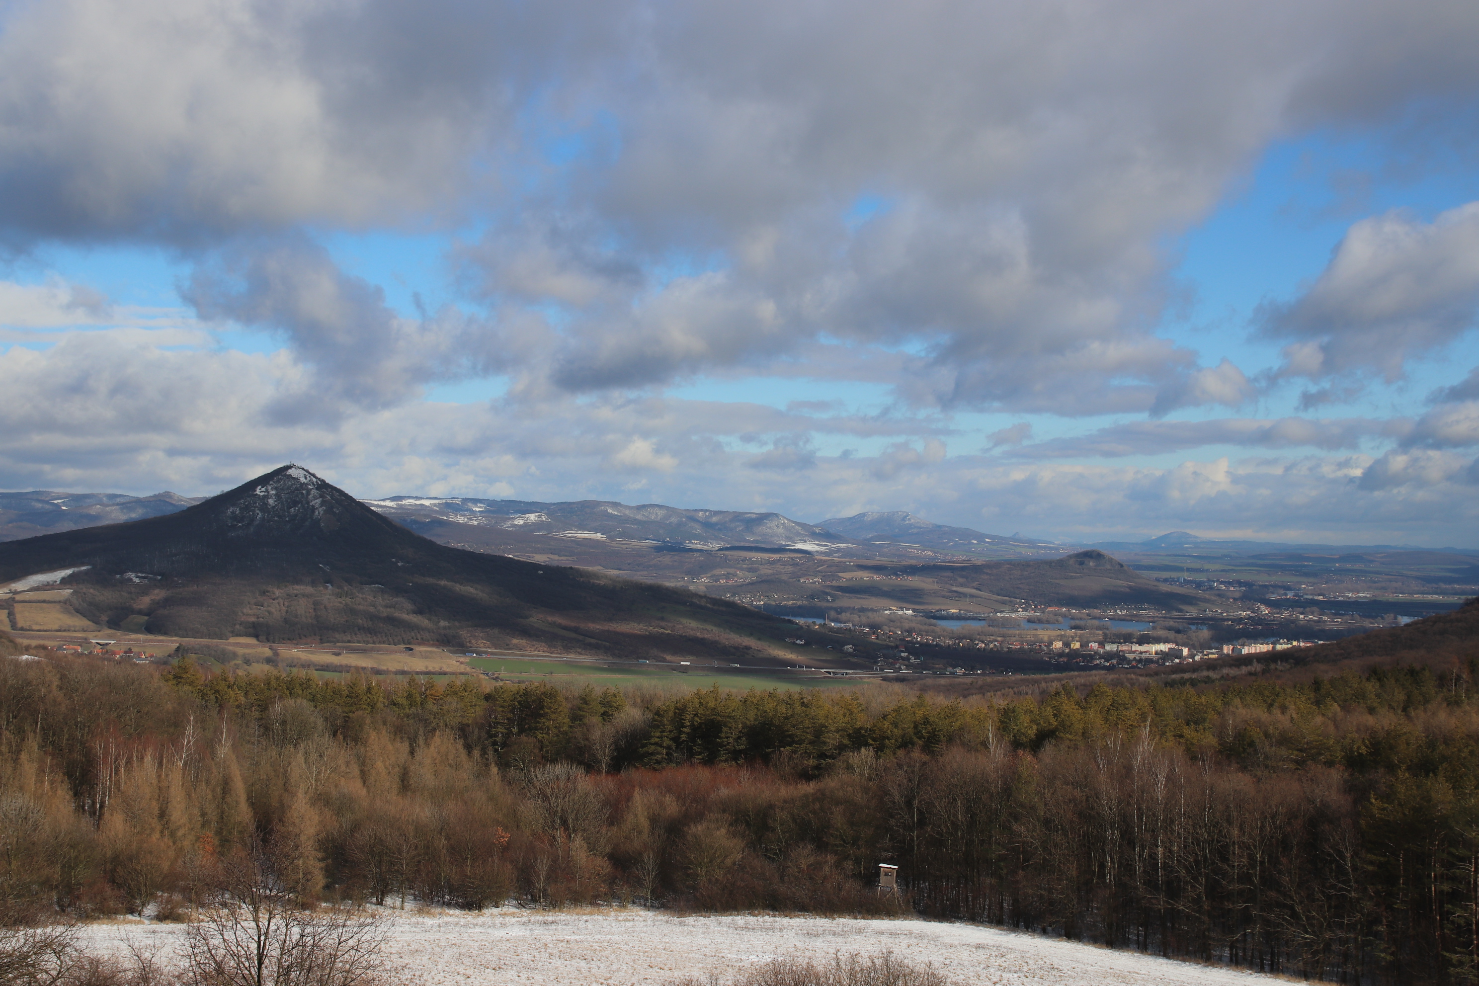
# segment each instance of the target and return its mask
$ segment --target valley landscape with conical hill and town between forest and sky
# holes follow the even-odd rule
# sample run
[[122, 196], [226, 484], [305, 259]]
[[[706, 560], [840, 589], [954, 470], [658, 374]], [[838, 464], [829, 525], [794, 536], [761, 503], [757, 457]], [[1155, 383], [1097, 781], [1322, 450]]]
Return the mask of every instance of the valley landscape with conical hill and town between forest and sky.
[[569, 658], [632, 683], [834, 686], [842, 671], [1046, 674], [1336, 640], [1454, 609], [1476, 571], [1461, 551], [1186, 534], [1106, 545], [1120, 559], [902, 511], [805, 525], [661, 504], [356, 501], [300, 467], [154, 503], [170, 513], [0, 543], [9, 628], [74, 646], [148, 637], [157, 656], [216, 647], [220, 667], [487, 673], [466, 664], [476, 653]]

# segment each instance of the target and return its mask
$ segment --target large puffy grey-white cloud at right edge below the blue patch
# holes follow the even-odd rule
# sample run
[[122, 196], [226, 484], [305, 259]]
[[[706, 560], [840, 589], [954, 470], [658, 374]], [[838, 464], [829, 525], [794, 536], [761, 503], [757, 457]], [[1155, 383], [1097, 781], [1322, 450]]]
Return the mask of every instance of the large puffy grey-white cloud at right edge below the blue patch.
[[1479, 203], [1432, 223], [1392, 211], [1355, 223], [1299, 299], [1269, 305], [1262, 331], [1293, 339], [1281, 377], [1404, 375], [1479, 312]]

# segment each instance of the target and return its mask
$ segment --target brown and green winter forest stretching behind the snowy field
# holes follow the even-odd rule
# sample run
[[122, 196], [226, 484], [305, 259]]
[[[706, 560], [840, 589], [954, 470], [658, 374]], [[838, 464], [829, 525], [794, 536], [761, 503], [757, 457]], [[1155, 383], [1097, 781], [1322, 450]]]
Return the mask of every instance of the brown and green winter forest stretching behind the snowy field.
[[256, 846], [305, 905], [914, 911], [1316, 980], [1479, 980], [1472, 653], [969, 698], [38, 656], [0, 658], [9, 921], [185, 919]]

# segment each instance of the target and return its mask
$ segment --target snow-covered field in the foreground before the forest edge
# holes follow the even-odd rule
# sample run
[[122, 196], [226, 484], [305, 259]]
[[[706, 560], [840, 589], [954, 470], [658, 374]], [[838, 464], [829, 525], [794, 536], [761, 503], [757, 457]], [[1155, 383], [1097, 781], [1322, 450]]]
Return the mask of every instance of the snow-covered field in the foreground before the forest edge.
[[[182, 928], [98, 924], [84, 943], [99, 952], [170, 951]], [[976, 986], [1257, 986], [1272, 977], [1114, 952], [935, 921], [859, 921], [781, 917], [673, 917], [630, 909], [575, 912], [396, 914], [389, 958], [393, 979], [424, 986], [627, 986], [667, 983], [716, 971], [723, 977], [776, 956], [825, 959], [884, 949], [933, 962], [954, 982]]]

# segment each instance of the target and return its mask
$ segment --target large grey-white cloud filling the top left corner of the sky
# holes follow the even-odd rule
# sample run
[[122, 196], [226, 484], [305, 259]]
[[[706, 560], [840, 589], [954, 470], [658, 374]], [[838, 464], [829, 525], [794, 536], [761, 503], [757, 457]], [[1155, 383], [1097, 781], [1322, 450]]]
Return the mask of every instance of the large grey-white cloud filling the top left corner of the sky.
[[0, 37], [0, 231], [19, 244], [198, 244], [436, 213], [516, 146], [518, 111], [568, 71], [565, 56], [609, 44], [602, 10], [13, 4]]

